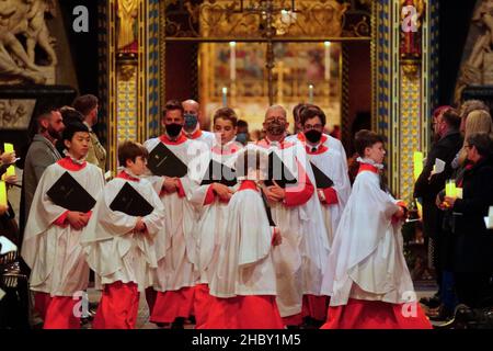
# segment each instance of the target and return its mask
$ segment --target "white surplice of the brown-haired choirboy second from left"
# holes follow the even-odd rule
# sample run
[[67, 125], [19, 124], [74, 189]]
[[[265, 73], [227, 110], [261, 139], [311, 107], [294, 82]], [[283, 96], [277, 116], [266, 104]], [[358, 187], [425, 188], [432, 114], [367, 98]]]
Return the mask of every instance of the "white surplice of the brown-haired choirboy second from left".
[[[139, 291], [144, 291], [152, 285], [152, 275], [158, 267], [157, 235], [164, 226], [164, 208], [150, 182], [145, 179], [136, 180], [115, 178], [106, 184], [82, 233], [81, 245], [88, 254], [89, 265], [100, 275], [102, 284], [134, 282]], [[126, 183], [154, 208], [142, 217], [146, 234], [134, 230], [138, 217], [110, 208]], [[159, 245], [167, 247], [163, 240]]]

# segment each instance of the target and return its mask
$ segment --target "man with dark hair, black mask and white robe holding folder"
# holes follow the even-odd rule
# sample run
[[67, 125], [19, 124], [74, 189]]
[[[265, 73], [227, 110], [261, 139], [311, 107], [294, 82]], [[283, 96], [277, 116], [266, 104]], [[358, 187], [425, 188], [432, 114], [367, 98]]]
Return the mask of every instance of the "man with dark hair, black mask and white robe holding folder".
[[[208, 149], [200, 141], [188, 139], [182, 128], [184, 124], [183, 107], [179, 101], [167, 103], [162, 123], [165, 133], [158, 138], [149, 139], [145, 147], [151, 152], [159, 144], [163, 144], [181, 162], [187, 167]], [[198, 186], [191, 171], [181, 178], [149, 177], [164, 206], [167, 220], [158, 236], [170, 242], [167, 251], [158, 249], [158, 268], [153, 281], [157, 292], [156, 301], [148, 294], [150, 320], [157, 324], [174, 322], [173, 327], [182, 328], [185, 318], [193, 308], [194, 286], [197, 280], [195, 269], [196, 233], [198, 212], [190, 201]], [[161, 240], [161, 239], [158, 239]], [[164, 240], [164, 239], [163, 239]]]

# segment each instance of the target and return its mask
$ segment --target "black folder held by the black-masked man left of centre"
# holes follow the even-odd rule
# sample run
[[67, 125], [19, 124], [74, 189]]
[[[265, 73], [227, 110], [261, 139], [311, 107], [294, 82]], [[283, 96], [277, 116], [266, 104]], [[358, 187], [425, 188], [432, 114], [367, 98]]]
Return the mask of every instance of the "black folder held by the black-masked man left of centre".
[[182, 178], [188, 172], [186, 165], [162, 143], [150, 151], [147, 168], [154, 176]]

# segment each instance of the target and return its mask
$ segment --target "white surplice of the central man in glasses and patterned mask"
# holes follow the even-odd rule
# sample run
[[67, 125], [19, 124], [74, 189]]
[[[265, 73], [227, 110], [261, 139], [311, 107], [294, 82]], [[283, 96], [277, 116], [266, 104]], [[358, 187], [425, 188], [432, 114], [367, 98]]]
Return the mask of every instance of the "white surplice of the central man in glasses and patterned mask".
[[[306, 181], [303, 174], [314, 186], [313, 172], [300, 143], [283, 141], [280, 147], [277, 147], [275, 143], [262, 140], [259, 145], [275, 152], [301, 183], [286, 185], [287, 193], [302, 190]], [[299, 205], [287, 206], [284, 202], [276, 202], [271, 204], [271, 210], [283, 237], [283, 244], [273, 250], [277, 306], [280, 316], [287, 317], [301, 312], [302, 295], [321, 295], [330, 246], [316, 191]]]

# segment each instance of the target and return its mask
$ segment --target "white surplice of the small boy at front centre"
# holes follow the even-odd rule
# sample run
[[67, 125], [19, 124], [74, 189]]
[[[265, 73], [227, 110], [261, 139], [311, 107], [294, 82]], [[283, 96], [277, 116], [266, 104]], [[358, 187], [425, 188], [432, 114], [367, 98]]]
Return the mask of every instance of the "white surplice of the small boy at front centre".
[[239, 190], [232, 195], [228, 211], [217, 270], [209, 283], [210, 295], [223, 298], [276, 295], [273, 228], [261, 194], [252, 189]]

